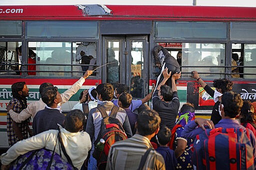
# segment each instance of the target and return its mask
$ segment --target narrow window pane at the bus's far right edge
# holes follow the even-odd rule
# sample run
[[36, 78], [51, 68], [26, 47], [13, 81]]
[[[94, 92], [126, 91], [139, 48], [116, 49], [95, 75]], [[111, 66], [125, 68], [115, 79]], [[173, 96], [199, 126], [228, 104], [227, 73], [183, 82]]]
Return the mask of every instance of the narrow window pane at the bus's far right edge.
[[[243, 65], [251, 68], [243, 68], [244, 73], [256, 73], [256, 44], [244, 44], [244, 58]], [[256, 75], [244, 75], [244, 78], [256, 78]]]

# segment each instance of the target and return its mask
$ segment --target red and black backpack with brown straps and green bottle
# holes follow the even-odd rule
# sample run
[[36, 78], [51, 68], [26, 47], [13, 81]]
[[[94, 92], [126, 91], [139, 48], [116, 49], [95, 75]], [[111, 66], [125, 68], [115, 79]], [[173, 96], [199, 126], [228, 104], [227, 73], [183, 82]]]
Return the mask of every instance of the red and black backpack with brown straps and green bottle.
[[[100, 112], [103, 119], [101, 120], [98, 137], [94, 142], [95, 150], [92, 156], [97, 160], [98, 169], [105, 170], [110, 147], [117, 141], [127, 139], [127, 136], [122, 128], [121, 122], [115, 118], [119, 110], [118, 106], [113, 106], [109, 116], [102, 106], [98, 106], [97, 110]], [[105, 143], [103, 151], [98, 152], [96, 150], [96, 145], [100, 139], [103, 139]]]

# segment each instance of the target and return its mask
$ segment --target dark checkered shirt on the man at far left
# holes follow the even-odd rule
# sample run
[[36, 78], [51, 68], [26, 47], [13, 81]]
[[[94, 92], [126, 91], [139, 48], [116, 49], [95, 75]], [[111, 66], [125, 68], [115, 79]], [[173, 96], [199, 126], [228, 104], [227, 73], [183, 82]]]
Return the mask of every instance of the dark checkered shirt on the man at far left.
[[[11, 104], [11, 103], [14, 103], [13, 110], [19, 115], [19, 113], [21, 112], [20, 102], [17, 99], [12, 98], [10, 100], [9, 104]], [[21, 123], [17, 124], [23, 139], [28, 138], [28, 132], [27, 132], [28, 122], [29, 122], [28, 120], [24, 120]], [[9, 144], [9, 146], [12, 146], [16, 142], [18, 142], [19, 139], [16, 136], [16, 134], [15, 134], [13, 128], [12, 128], [12, 119], [11, 119], [9, 113], [7, 113], [6, 123], [7, 123], [6, 124], [6, 130], [7, 130], [8, 144]]]

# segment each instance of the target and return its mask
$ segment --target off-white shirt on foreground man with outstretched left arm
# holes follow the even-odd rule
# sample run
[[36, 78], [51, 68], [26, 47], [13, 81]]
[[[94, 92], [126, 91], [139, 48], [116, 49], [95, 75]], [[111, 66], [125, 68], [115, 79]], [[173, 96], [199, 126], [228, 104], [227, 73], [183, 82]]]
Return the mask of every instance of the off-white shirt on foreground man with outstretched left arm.
[[[88, 151], [91, 148], [90, 137], [86, 132], [71, 133], [61, 126], [59, 126], [59, 128], [66, 153], [70, 157], [74, 167], [80, 170], [88, 155]], [[17, 142], [15, 145], [10, 147], [6, 153], [0, 156], [1, 164], [8, 165], [18, 156], [24, 155], [25, 153], [33, 150], [46, 148], [53, 151], [56, 144], [57, 134], [57, 130], [49, 130], [36, 136], [32, 136], [26, 140]], [[60, 147], [57, 142], [55, 152], [60, 155], [59, 148]], [[67, 161], [62, 151], [61, 156], [65, 161]]]

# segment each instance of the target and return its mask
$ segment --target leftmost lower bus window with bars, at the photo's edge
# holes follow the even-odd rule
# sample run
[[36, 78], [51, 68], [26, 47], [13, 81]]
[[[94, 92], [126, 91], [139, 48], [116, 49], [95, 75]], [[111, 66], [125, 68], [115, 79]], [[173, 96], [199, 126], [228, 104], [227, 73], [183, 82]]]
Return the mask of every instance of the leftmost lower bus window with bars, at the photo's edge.
[[21, 42], [0, 42], [0, 75], [19, 75], [21, 56], [16, 51]]

